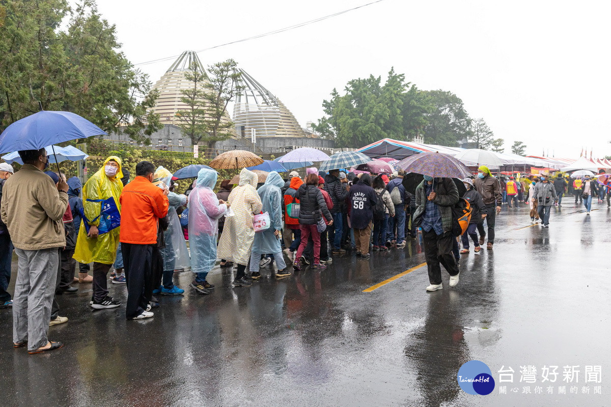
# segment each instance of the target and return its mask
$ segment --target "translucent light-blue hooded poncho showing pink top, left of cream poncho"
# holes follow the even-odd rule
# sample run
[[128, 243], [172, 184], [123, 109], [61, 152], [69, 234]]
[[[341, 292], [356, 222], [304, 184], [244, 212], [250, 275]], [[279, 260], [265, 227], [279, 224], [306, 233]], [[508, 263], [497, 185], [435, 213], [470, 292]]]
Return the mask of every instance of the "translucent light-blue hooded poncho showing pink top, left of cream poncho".
[[216, 262], [216, 236], [219, 218], [227, 212], [225, 204], [219, 204], [212, 190], [218, 174], [202, 168], [197, 173], [195, 188], [189, 194], [189, 245], [191, 247], [191, 271], [208, 273]]

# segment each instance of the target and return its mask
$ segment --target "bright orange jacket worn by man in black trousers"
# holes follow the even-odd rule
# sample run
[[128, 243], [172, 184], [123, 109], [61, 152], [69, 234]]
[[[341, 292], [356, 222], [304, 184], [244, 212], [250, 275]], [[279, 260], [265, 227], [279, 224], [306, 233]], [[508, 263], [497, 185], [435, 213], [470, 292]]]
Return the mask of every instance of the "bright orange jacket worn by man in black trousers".
[[121, 197], [122, 243], [154, 245], [157, 243], [158, 219], [167, 215], [169, 203], [163, 190], [143, 176], [125, 185]]

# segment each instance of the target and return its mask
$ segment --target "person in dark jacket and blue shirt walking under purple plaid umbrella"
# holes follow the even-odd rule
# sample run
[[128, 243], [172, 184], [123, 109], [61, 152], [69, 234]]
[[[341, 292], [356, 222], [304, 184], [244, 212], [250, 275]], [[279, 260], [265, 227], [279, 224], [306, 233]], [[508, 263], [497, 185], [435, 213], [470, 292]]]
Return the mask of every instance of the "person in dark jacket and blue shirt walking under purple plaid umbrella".
[[[500, 193], [500, 189], [499, 189]], [[426, 291], [444, 288], [440, 263], [450, 274], [450, 287], [458, 284], [458, 267], [452, 254], [452, 206], [458, 203], [458, 189], [451, 178], [433, 178], [425, 175], [416, 187], [414, 223], [422, 228], [422, 239], [428, 279]]]

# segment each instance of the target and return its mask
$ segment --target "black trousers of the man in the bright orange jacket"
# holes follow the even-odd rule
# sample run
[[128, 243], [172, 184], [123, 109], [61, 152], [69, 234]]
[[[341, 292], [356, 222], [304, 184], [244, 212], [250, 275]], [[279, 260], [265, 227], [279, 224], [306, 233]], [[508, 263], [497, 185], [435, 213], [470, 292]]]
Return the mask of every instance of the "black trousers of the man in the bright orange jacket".
[[131, 319], [147, 309], [147, 289], [153, 292], [153, 245], [121, 243], [121, 250], [127, 282], [125, 317]]

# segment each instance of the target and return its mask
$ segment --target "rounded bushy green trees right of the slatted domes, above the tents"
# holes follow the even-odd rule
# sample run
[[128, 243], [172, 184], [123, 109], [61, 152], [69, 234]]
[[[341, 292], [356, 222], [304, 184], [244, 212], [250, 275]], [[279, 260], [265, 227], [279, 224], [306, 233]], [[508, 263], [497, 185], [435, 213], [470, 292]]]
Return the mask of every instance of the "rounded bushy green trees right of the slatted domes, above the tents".
[[370, 75], [354, 79], [323, 101], [325, 117], [312, 128], [337, 146], [362, 146], [386, 137], [407, 140], [419, 134], [430, 112], [427, 98], [403, 74], [388, 73], [386, 83]]

